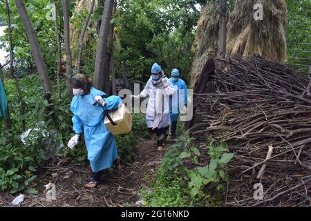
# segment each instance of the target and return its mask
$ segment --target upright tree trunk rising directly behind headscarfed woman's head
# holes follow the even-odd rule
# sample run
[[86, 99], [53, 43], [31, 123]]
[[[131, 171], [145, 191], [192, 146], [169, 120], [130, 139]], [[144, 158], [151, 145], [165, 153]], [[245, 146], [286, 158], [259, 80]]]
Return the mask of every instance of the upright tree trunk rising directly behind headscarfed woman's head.
[[69, 12], [68, 12], [68, 0], [62, 0], [62, 10], [64, 17], [64, 44], [66, 52], [66, 88], [67, 94], [73, 95], [70, 85], [72, 57], [70, 50], [70, 30], [69, 30]]

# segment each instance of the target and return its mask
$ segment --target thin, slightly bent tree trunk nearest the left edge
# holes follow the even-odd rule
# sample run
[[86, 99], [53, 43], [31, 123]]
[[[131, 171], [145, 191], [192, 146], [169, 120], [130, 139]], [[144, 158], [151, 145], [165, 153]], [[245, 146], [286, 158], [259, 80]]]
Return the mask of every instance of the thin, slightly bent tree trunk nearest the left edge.
[[[17, 88], [17, 97], [19, 98], [19, 107], [21, 109], [21, 116], [23, 117], [26, 113], [25, 111], [25, 103], [23, 102], [23, 94], [21, 93], [21, 87], [19, 86], [19, 79], [15, 75], [13, 70], [13, 59], [14, 59], [14, 46], [13, 46], [13, 39], [12, 39], [12, 28], [11, 28], [11, 15], [10, 15], [10, 7], [8, 5], [8, 0], [6, 0], [6, 12], [8, 15], [8, 34], [9, 34], [9, 41], [10, 41], [10, 75], [13, 79], [15, 79], [15, 85]], [[26, 122], [23, 118], [21, 120], [21, 128], [23, 131], [26, 130]]]

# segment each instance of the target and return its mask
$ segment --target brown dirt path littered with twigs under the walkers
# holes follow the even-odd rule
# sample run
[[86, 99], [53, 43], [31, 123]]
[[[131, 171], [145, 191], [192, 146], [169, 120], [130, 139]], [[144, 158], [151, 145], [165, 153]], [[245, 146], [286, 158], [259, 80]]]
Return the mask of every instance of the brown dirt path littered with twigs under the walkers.
[[[86, 189], [90, 171], [79, 164], [50, 165], [38, 175], [35, 187], [39, 195], [28, 195], [21, 206], [124, 206], [134, 205], [140, 199], [140, 190], [147, 187], [147, 180], [155, 174], [164, 151], [156, 151], [154, 142], [138, 138], [137, 159], [131, 165], [123, 165], [122, 173], [107, 171], [96, 189]], [[53, 177], [54, 176], [54, 177]], [[56, 200], [46, 199], [44, 185], [55, 184]], [[12, 195], [0, 193], [0, 206], [12, 206]]]

